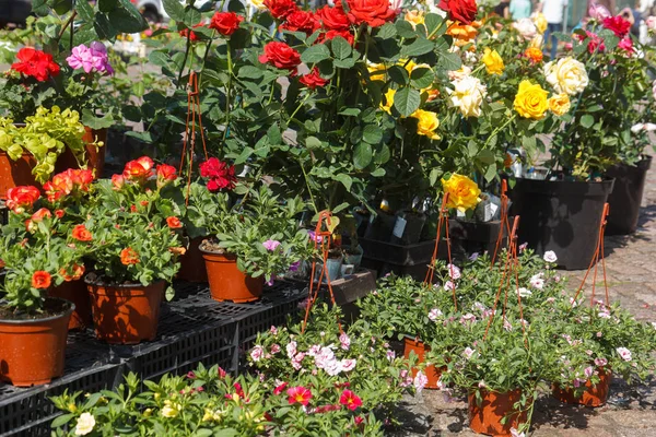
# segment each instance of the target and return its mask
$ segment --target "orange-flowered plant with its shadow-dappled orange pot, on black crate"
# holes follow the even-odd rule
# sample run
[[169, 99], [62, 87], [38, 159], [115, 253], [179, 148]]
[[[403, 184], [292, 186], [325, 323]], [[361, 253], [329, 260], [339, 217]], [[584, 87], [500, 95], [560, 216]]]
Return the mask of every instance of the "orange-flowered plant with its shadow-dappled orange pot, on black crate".
[[96, 335], [103, 340], [138, 343], [156, 334], [164, 290], [166, 298], [173, 298], [169, 284], [185, 250], [176, 205], [165, 194], [176, 180], [175, 168], [155, 167], [142, 156], [112, 180], [95, 182], [86, 220], [80, 224], [85, 233], [77, 245], [93, 265], [85, 280]]

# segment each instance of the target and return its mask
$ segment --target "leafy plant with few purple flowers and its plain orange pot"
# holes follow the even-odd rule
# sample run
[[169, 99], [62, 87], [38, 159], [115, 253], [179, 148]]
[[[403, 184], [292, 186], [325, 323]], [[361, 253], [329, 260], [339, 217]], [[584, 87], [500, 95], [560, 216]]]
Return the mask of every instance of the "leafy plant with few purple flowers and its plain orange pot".
[[295, 220], [305, 204], [298, 198], [282, 203], [263, 186], [232, 208], [227, 193], [215, 196], [220, 220], [208, 223], [212, 237], [200, 246], [210, 293], [216, 300], [256, 300], [265, 281], [272, 283], [311, 253], [307, 233]]

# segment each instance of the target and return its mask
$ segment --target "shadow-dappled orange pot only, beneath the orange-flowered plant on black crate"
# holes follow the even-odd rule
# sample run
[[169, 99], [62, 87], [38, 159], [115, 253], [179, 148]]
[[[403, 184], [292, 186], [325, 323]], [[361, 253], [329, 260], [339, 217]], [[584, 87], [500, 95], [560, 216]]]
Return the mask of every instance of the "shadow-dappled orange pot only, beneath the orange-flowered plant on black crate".
[[107, 285], [86, 280], [96, 338], [113, 344], [137, 344], [157, 334], [164, 281]]

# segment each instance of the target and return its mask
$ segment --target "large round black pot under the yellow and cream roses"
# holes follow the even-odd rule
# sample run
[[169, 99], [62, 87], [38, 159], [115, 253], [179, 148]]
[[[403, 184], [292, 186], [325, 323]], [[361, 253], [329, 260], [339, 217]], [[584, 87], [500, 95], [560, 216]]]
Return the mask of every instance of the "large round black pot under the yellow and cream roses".
[[563, 269], [587, 269], [613, 181], [517, 178], [511, 190], [511, 214], [520, 216], [518, 243], [528, 243], [539, 255], [553, 250]]

